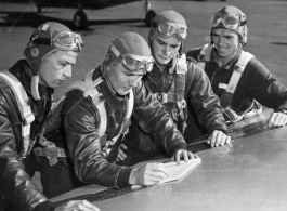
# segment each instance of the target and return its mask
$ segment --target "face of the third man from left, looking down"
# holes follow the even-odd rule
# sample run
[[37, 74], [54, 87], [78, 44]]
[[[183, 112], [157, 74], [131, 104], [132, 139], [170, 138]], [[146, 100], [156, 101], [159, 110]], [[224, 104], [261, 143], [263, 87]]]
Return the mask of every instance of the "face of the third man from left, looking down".
[[181, 41], [177, 37], [162, 38], [156, 36], [152, 40], [152, 51], [154, 58], [159, 65], [167, 65], [178, 55]]

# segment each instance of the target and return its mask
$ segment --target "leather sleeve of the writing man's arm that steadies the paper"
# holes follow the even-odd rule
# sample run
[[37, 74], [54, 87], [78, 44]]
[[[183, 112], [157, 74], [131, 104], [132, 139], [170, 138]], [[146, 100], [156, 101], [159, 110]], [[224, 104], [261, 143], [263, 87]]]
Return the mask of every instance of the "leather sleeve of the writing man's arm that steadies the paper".
[[142, 81], [134, 89], [134, 120], [142, 130], [153, 135], [172, 156], [178, 149], [186, 149], [186, 143], [164, 106]]

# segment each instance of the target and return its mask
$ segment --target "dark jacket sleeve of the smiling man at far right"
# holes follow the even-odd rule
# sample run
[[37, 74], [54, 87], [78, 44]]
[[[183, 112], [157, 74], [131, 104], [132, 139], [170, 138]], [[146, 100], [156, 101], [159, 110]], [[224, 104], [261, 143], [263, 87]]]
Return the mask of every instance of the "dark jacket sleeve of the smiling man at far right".
[[[256, 58], [246, 66], [248, 94], [275, 111], [287, 114], [287, 88]], [[245, 74], [244, 72], [244, 74]]]

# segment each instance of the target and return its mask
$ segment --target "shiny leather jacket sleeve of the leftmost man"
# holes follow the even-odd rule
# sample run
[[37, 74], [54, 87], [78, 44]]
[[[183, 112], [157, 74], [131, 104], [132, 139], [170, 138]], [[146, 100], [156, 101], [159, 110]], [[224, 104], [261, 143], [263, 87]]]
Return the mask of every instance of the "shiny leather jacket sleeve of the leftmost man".
[[21, 210], [54, 210], [55, 207], [32, 183], [19, 160], [16, 149], [16, 139], [19, 137], [13, 132], [9, 111], [12, 105], [9, 105], [5, 97], [6, 95], [0, 93], [0, 189]]

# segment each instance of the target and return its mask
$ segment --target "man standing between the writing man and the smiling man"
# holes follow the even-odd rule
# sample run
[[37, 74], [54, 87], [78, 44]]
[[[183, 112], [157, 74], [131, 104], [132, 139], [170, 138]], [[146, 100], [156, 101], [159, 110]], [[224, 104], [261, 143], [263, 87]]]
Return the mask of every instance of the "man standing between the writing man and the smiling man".
[[[192, 124], [187, 124], [185, 130], [187, 111], [193, 111], [194, 108], [210, 134], [210, 144], [224, 145], [230, 142], [230, 136], [225, 134], [226, 126], [219, 100], [213, 94], [207, 76], [197, 65], [187, 66], [185, 55], [181, 52], [186, 36], [186, 22], [178, 12], [165, 11], [154, 18], [148, 43], [155, 65], [153, 71], [143, 78], [144, 84], [164, 104], [182, 133], [192, 131], [193, 139], [203, 134], [200, 131], [195, 134]], [[185, 140], [192, 141], [192, 137]], [[162, 147], [156, 143], [157, 137], [145, 133], [132, 119], [130, 132], [119, 147], [117, 163], [132, 166], [165, 154]]]

